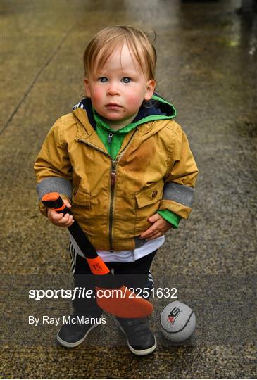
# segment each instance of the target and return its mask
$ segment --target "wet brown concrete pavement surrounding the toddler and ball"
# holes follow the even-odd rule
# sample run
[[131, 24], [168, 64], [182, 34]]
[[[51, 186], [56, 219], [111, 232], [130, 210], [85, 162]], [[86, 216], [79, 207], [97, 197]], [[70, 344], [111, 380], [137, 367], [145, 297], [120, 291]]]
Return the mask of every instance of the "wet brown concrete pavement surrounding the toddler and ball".
[[[256, 16], [240, 1], [2, 1], [2, 378], [256, 377]], [[158, 91], [178, 110], [199, 165], [194, 210], [153, 264], [196, 312], [192, 338], [172, 346], [154, 298], [156, 352], [134, 357], [115, 321], [68, 350], [58, 317], [68, 300], [30, 289], [72, 288], [67, 236], [39, 214], [33, 163], [54, 121], [83, 94], [82, 53], [107, 25], [156, 30]], [[165, 275], [163, 276], [163, 273]]]

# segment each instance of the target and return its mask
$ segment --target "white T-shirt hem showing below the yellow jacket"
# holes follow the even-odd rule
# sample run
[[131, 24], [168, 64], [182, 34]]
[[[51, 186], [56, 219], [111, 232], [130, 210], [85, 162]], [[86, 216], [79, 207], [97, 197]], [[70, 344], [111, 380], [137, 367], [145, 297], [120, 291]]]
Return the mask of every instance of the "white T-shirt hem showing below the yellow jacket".
[[[76, 241], [73, 239], [73, 236], [70, 235], [70, 243], [72, 243], [73, 248], [78, 253], [78, 255], [82, 256], [84, 258], [84, 255], [82, 251], [80, 250], [80, 247], [77, 245]], [[156, 249], [163, 246], [163, 243], [165, 241], [164, 236], [160, 236], [156, 239], [147, 241], [144, 246], [141, 246], [139, 248], [135, 248], [131, 251], [96, 251], [97, 254], [104, 260], [104, 262], [132, 262], [135, 260], [138, 260], [139, 258], [143, 258], [146, 255], [149, 255], [149, 253], [152, 253], [153, 251], [156, 251]]]

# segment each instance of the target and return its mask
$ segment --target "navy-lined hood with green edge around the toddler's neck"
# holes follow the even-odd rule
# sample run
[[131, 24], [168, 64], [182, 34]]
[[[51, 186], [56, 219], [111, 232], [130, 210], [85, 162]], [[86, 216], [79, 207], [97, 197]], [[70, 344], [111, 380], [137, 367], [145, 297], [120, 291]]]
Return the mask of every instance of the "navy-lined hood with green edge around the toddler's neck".
[[[87, 117], [94, 129], [96, 129], [96, 121], [94, 119], [94, 110], [92, 108], [91, 99], [85, 98], [82, 99], [79, 103], [77, 103], [73, 110], [77, 108], [82, 108], [87, 112]], [[143, 103], [139, 108], [139, 112], [137, 116], [132, 121], [134, 126], [143, 124], [144, 122], [149, 122], [153, 120], [165, 120], [165, 119], [173, 119], [177, 116], [177, 110], [173, 106], [173, 104], [169, 103], [165, 99], [163, 99], [158, 94], [153, 94], [151, 100]]]

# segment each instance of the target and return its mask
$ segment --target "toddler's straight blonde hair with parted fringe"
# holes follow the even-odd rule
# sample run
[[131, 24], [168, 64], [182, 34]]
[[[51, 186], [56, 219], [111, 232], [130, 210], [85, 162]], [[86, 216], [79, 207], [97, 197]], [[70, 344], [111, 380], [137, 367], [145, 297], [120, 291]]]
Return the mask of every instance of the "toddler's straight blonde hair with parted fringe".
[[[154, 32], [142, 32], [136, 27], [119, 25], [106, 27], [91, 39], [84, 51], [84, 75], [88, 77], [90, 72], [101, 70], [113, 51], [123, 44], [127, 44], [134, 60], [138, 63], [142, 72], [146, 73], [148, 80], [155, 79], [156, 49], [150, 40], [153, 34], [153, 42], [156, 39]], [[97, 68], [95, 64], [97, 62]]]

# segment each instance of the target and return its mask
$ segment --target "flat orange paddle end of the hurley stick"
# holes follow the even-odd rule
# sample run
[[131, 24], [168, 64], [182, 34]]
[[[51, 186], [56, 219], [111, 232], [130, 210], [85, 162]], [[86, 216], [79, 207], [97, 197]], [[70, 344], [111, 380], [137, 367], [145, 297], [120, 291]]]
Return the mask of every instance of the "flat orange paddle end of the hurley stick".
[[153, 312], [153, 305], [148, 300], [137, 297], [124, 285], [119, 289], [96, 286], [96, 302], [100, 308], [120, 318], [144, 318]]

